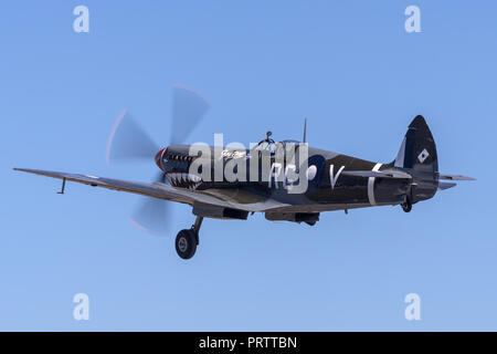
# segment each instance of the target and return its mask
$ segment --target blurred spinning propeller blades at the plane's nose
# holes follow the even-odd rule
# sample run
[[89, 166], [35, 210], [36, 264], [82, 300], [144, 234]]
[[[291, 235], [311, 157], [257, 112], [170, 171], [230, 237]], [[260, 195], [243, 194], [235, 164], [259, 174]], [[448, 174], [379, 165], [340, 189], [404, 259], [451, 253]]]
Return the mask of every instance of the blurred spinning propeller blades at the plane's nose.
[[[198, 91], [176, 84], [172, 87], [172, 118], [169, 144], [182, 144], [200, 123], [210, 107], [210, 102]], [[160, 146], [154, 142], [138, 122], [126, 111], [117, 118], [107, 143], [106, 160], [154, 162]], [[155, 165], [154, 165], [155, 166]], [[156, 183], [166, 183], [162, 171]], [[130, 217], [134, 226], [155, 235], [165, 235], [170, 216], [169, 202], [163, 199], [142, 197]]]

